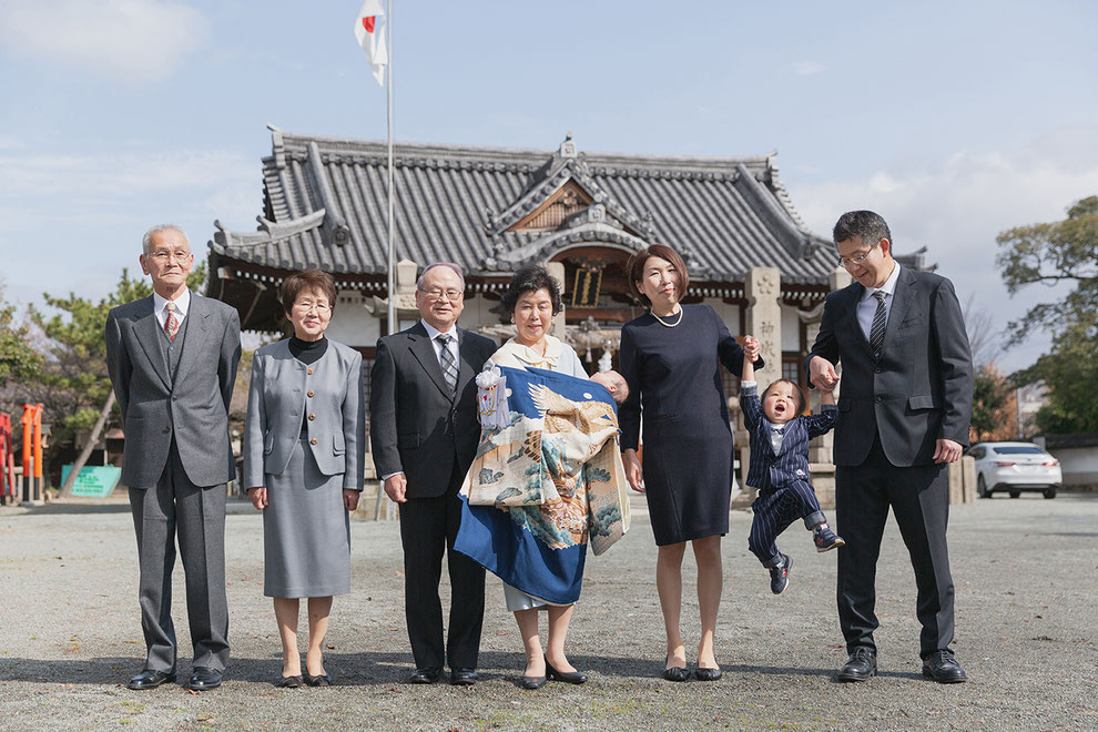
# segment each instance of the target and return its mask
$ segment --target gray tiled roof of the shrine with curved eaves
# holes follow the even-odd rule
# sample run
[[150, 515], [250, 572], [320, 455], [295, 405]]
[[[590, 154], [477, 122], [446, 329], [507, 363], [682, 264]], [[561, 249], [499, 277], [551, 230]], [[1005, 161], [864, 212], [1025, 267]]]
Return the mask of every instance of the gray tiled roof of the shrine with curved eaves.
[[[212, 252], [279, 270], [384, 274], [385, 142], [272, 128], [272, 146], [258, 231], [217, 224]], [[558, 150], [399, 143], [395, 160], [398, 260], [491, 275], [571, 244], [661, 242], [685, 255], [698, 281], [742, 282], [750, 267], [775, 266], [785, 282], [823, 285], [835, 266], [830, 243], [793, 209], [773, 155], [580, 153], [569, 139]], [[553, 231], [508, 231], [569, 181], [593, 201], [583, 212]]]

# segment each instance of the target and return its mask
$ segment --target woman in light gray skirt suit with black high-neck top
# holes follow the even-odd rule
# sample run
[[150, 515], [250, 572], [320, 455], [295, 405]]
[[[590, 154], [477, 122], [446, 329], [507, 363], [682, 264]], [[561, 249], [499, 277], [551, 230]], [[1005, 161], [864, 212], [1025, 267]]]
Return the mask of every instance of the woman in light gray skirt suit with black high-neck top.
[[[363, 489], [363, 359], [324, 337], [335, 282], [312, 270], [286, 277], [291, 338], [252, 360], [244, 440], [248, 498], [263, 511], [263, 593], [282, 638], [279, 687], [324, 687], [332, 597], [350, 591], [350, 519]], [[308, 652], [297, 649], [299, 599], [308, 598]]]

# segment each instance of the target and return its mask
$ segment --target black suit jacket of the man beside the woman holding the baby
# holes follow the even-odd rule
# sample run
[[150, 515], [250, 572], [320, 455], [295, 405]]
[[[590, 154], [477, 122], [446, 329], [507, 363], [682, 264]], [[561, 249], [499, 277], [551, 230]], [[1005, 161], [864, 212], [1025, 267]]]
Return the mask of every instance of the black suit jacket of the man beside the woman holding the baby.
[[494, 340], [458, 328], [455, 398], [423, 323], [377, 340], [369, 434], [378, 476], [403, 470], [408, 498], [446, 494], [455, 460], [464, 477], [480, 439], [475, 377], [494, 353]]

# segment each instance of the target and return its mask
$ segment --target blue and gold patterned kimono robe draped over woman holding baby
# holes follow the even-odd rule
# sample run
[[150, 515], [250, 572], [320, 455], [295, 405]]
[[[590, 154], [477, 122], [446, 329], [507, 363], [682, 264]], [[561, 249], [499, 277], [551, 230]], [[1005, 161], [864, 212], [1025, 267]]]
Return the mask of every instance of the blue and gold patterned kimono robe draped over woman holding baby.
[[500, 372], [510, 420], [481, 431], [454, 548], [533, 598], [569, 604], [588, 541], [600, 555], [629, 526], [617, 408], [586, 378]]

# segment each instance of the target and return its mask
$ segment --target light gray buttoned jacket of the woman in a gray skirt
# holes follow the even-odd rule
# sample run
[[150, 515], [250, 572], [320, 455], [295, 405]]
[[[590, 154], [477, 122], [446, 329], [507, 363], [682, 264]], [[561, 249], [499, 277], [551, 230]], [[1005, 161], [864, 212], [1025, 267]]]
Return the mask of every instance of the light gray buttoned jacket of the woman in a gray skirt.
[[289, 353], [288, 338], [263, 346], [252, 359], [244, 425], [245, 488], [265, 486], [265, 474], [285, 472], [306, 414], [308, 444], [321, 472], [342, 474], [345, 489], [363, 489], [362, 354], [328, 339], [324, 356], [306, 366]]

